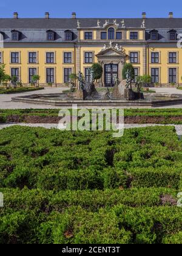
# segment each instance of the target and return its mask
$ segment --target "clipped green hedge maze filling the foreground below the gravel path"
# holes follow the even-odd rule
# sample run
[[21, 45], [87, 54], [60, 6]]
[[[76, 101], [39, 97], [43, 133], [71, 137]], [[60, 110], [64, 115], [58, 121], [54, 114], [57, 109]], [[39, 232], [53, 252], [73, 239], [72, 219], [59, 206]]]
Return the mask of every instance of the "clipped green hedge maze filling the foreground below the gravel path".
[[181, 243], [174, 127], [0, 131], [0, 243]]

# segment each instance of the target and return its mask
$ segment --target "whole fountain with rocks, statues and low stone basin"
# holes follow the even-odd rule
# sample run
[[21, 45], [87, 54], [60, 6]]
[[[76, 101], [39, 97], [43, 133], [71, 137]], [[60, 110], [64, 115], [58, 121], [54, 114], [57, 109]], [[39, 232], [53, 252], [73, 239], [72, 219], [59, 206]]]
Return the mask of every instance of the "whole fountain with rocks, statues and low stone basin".
[[72, 85], [69, 93], [32, 94], [12, 98], [12, 101], [55, 105], [61, 108], [71, 108], [73, 104], [77, 104], [79, 108], [145, 108], [182, 104], [181, 94], [142, 93], [137, 82], [135, 84], [136, 91], [134, 91], [129, 70], [126, 73], [126, 80], [119, 83], [118, 79], [116, 79], [112, 92], [109, 88], [97, 91], [94, 85], [92, 69], [90, 69], [90, 72], [92, 82], [85, 82], [83, 75], [79, 72], [78, 90], [76, 91]]

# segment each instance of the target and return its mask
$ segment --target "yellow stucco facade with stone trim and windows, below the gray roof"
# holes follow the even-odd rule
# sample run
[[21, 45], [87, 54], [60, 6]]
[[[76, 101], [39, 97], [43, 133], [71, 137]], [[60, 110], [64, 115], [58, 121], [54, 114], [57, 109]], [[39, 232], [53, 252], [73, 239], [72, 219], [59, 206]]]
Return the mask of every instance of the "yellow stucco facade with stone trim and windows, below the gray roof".
[[[15, 53], [16, 56], [12, 55]], [[30, 61], [32, 53], [35, 59]], [[52, 54], [51, 62], [47, 61], [47, 54]], [[69, 82], [70, 73], [78, 74], [79, 71], [89, 79], [87, 68], [96, 62], [103, 65], [104, 74], [99, 81], [103, 86], [113, 85], [113, 82], [108, 82], [112, 76], [122, 79], [125, 62], [132, 63], [136, 76], [152, 76], [153, 84], [182, 82], [182, 49], [177, 48], [176, 42], [147, 41], [144, 27], [118, 27], [115, 23], [105, 27], [78, 27], [77, 40], [73, 42], [5, 43], [0, 49], [0, 57], [6, 73], [10, 76], [17, 73], [22, 84], [30, 84], [30, 71], [40, 76], [41, 85], [50, 82], [56, 86], [65, 84]], [[117, 73], [113, 72], [113, 75], [110, 69], [117, 69]]]

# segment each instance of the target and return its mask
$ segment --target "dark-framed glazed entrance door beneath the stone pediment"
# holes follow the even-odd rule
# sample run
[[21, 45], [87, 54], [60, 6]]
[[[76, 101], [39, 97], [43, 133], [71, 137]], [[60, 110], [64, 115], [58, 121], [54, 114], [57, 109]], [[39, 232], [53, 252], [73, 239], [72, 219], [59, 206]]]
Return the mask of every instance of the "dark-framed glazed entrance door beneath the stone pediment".
[[113, 87], [115, 86], [115, 79], [118, 79], [118, 65], [116, 64], [107, 64], [104, 68], [105, 74], [105, 86]]

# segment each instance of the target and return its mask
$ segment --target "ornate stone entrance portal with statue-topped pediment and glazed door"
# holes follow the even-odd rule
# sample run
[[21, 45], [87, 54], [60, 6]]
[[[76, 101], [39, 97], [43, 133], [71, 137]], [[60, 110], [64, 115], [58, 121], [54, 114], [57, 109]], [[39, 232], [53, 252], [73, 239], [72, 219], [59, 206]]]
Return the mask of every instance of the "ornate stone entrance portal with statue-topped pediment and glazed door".
[[123, 79], [122, 71], [127, 55], [122, 46], [118, 46], [118, 44], [113, 46], [110, 41], [109, 46], [105, 44], [96, 57], [103, 66], [102, 83], [105, 87], [113, 87], [115, 79], [120, 81]]

